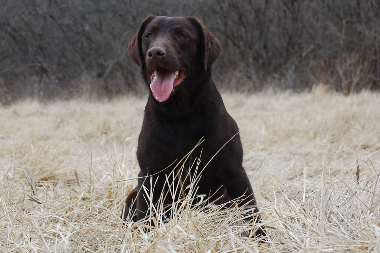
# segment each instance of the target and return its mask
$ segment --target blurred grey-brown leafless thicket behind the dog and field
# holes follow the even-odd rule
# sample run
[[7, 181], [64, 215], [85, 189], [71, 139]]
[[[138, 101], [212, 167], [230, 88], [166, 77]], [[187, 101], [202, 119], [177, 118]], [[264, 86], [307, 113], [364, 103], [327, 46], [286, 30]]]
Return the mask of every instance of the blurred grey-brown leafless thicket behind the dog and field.
[[147, 15], [195, 16], [220, 89], [380, 89], [378, 0], [0, 0], [0, 104], [146, 94], [127, 45]]

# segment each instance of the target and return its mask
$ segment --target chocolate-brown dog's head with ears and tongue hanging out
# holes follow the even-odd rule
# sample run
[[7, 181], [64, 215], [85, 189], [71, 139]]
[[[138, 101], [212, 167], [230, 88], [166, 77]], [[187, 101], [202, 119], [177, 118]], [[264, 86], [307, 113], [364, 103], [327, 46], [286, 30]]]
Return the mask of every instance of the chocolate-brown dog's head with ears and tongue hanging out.
[[191, 93], [220, 54], [218, 40], [197, 18], [148, 16], [128, 46], [154, 98]]

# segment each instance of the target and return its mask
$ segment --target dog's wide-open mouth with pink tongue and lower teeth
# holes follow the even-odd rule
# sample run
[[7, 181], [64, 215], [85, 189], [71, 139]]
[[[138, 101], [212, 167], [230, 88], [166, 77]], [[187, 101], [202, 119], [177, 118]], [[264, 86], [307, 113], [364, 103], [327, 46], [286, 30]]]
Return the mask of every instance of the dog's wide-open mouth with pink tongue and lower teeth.
[[186, 70], [180, 69], [170, 71], [165, 68], [157, 67], [154, 73], [150, 75], [150, 89], [153, 92], [154, 98], [158, 102], [165, 102], [169, 99], [174, 88], [179, 86], [186, 78]]

